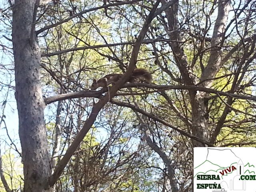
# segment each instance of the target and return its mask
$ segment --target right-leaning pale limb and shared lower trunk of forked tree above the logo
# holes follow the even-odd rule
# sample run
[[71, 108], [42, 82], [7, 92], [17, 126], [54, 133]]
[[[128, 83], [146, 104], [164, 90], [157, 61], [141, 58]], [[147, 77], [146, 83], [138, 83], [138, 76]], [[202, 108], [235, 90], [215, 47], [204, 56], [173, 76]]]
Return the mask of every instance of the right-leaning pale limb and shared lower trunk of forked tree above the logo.
[[[214, 25], [214, 31], [212, 34], [211, 51], [208, 64], [204, 71], [200, 81], [203, 83], [200, 86], [210, 88], [213, 81], [207, 79], [214, 78], [221, 67], [221, 47], [225, 38], [225, 29], [228, 22], [228, 14], [230, 11], [230, 0], [224, 0], [218, 2], [218, 16]], [[204, 101], [207, 94], [203, 92], [196, 92], [190, 94], [192, 104], [192, 133], [198, 138], [208, 141], [210, 139], [210, 130], [208, 128], [208, 102]], [[193, 141], [194, 147], [204, 147], [204, 144]]]

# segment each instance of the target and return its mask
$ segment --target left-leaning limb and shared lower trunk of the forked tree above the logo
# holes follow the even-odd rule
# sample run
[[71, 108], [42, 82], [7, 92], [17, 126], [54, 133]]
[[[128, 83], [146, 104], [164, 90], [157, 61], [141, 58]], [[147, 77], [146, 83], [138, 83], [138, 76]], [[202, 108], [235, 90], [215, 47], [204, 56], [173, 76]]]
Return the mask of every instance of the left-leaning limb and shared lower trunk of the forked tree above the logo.
[[[166, 1], [162, 0], [162, 3], [166, 3]], [[173, 31], [172, 33], [170, 33], [169, 38], [173, 41], [176, 41], [170, 43], [170, 46], [172, 47], [174, 58], [182, 75], [184, 84], [194, 85], [196, 83], [195, 78], [192, 75], [192, 70], [190, 66], [188, 65], [186, 54], [182, 50], [182, 47], [179, 43], [180, 33], [178, 28], [178, 7], [179, 4], [177, 2], [165, 11], [168, 20], [169, 30]], [[200, 96], [199, 92], [193, 90], [189, 91], [189, 95], [192, 106], [192, 134], [198, 138], [201, 138], [202, 140], [208, 140], [207, 135], [204, 132], [207, 129], [208, 124], [207, 119], [205, 118], [206, 106], [202, 102], [203, 97]], [[196, 140], [193, 140], [193, 145], [195, 147], [204, 146], [203, 143]]]

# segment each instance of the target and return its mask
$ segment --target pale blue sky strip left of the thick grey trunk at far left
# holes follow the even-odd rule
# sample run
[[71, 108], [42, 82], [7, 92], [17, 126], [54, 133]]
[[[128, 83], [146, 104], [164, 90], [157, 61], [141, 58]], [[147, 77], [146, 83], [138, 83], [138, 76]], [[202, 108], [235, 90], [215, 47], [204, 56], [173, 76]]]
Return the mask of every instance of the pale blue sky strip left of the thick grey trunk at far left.
[[[6, 0], [0, 0], [0, 8], [4, 9], [6, 8]], [[0, 17], [2, 17], [2, 14], [0, 14]], [[4, 18], [4, 17], [2, 17]], [[10, 23], [8, 23], [10, 24]], [[8, 47], [12, 47], [12, 43], [6, 38], [3, 37], [6, 36], [7, 38], [11, 38], [11, 29], [6, 28], [6, 25], [0, 20], [0, 45], [5, 45]], [[4, 109], [4, 115], [6, 118], [4, 118], [6, 122], [6, 126], [8, 128], [8, 133], [15, 144], [18, 144], [19, 146], [19, 136], [18, 136], [18, 112], [17, 112], [17, 106], [16, 106], [16, 100], [14, 97], [14, 89], [10, 88], [8, 92], [8, 86], [2, 85], [2, 84], [9, 84], [11, 82], [11, 86], [15, 86], [14, 82], [14, 61], [13, 56], [10, 53], [10, 49], [5, 48], [3, 50], [3, 47], [0, 46], [0, 116], [2, 116], [3, 113], [3, 102], [6, 100], [6, 108]], [[3, 88], [2, 88], [3, 86]], [[8, 92], [8, 94], [7, 94]], [[4, 153], [4, 149], [8, 148], [8, 144], [10, 144], [10, 140], [8, 139], [6, 135], [6, 129], [4, 129], [5, 125], [4, 123], [1, 124], [0, 127], [0, 142], [1, 142], [1, 152]], [[8, 144], [6, 144], [6, 142]], [[17, 146], [17, 147], [18, 147]], [[19, 147], [20, 148], [20, 147]]]

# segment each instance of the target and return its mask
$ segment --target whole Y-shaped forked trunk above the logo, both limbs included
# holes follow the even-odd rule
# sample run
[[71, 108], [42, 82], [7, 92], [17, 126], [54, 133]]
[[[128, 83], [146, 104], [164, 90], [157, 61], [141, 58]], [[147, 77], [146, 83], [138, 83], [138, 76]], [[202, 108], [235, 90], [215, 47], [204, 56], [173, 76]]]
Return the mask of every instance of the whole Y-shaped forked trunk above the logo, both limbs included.
[[[162, 4], [166, 4], [166, 0], [161, 0]], [[168, 20], [169, 30], [172, 31], [169, 37], [170, 45], [174, 54], [174, 59], [182, 75], [182, 80], [186, 85], [195, 85], [196, 79], [192, 75], [192, 69], [190, 68], [186, 54], [184, 53], [180, 41], [180, 34], [178, 30], [178, 7], [179, 2], [170, 6], [165, 13]], [[214, 25], [214, 31], [212, 35], [211, 42], [211, 52], [208, 64], [204, 71], [200, 81], [203, 83], [200, 84], [202, 87], [210, 88], [212, 85], [212, 80], [219, 71], [221, 67], [221, 46], [223, 45], [223, 39], [225, 37], [225, 29], [228, 21], [228, 14], [230, 11], [230, 0], [223, 0], [218, 2], [218, 17]], [[168, 31], [167, 31], [168, 32]], [[195, 92], [189, 91], [190, 102], [192, 107], [192, 134], [202, 140], [209, 141], [210, 130], [208, 128], [208, 112], [207, 107], [208, 103], [205, 101], [207, 94], [204, 92]], [[204, 147], [205, 144], [193, 140], [194, 147]]]

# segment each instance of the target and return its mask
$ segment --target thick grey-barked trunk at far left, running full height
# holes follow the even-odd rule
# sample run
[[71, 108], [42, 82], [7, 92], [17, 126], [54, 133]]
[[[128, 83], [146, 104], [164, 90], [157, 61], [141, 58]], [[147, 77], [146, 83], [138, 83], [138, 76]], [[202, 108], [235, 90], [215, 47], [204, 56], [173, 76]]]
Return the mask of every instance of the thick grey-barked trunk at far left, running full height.
[[40, 49], [33, 23], [38, 3], [37, 0], [15, 0], [13, 9], [15, 94], [24, 164], [24, 192], [50, 190], [50, 156], [40, 82]]

